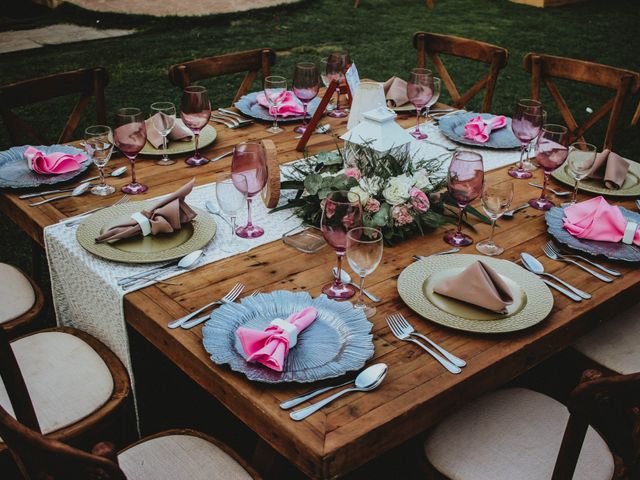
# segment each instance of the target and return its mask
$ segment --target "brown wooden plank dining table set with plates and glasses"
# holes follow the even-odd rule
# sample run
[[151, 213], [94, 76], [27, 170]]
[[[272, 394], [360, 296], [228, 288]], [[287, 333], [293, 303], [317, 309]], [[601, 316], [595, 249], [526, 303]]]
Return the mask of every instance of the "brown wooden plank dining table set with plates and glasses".
[[[405, 126], [412, 122], [412, 117], [401, 119]], [[342, 133], [346, 120], [331, 120], [331, 123], [334, 132]], [[214, 156], [241, 140], [267, 137], [265, 128], [264, 124], [240, 130], [218, 128], [218, 140], [206, 153]], [[291, 130], [291, 126], [286, 126], [284, 133], [270, 137], [278, 145], [281, 163], [300, 157], [295, 152]], [[312, 152], [329, 150], [334, 147], [334, 140], [315, 135], [311, 144]], [[174, 190], [193, 175], [197, 176], [198, 184], [214, 181], [229, 170], [229, 163], [227, 158], [203, 167], [186, 168], [182, 162], [159, 167], [153, 161], [142, 160], [139, 179], [151, 188], [141, 198]], [[122, 159], [114, 161], [112, 166], [120, 164], [124, 164]], [[89, 174], [92, 173], [93, 169]], [[512, 181], [505, 169], [491, 172], [488, 177]], [[536, 180], [540, 181], [539, 177], [537, 173]], [[121, 186], [127, 180], [110, 181]], [[539, 190], [529, 187], [527, 182], [516, 181], [516, 184], [514, 205], [539, 194]], [[5, 192], [0, 195], [0, 208], [42, 244], [42, 229], [46, 225], [113, 201], [114, 198], [87, 195], [30, 208], [15, 194]], [[631, 207], [631, 202], [624, 205]], [[330, 267], [335, 261], [335, 254], [329, 248], [306, 255], [281, 241], [263, 245], [185, 274], [180, 278], [181, 286], [153, 285], [128, 294], [126, 319], [186, 375], [301, 471], [312, 478], [336, 478], [423, 432], [447, 413], [570, 345], [597, 322], [635, 302], [640, 293], [640, 272], [632, 266], [616, 265], [624, 276], [606, 284], [573, 266], [546, 259], [541, 252], [541, 246], [548, 240], [543, 214], [527, 209], [514, 220], [500, 222], [496, 240], [506, 248], [500, 258], [516, 260], [520, 252], [528, 251], [549, 271], [592, 293], [593, 299], [574, 303], [554, 292], [555, 306], [549, 318], [513, 334], [467, 334], [440, 327], [403, 304], [396, 291], [396, 278], [411, 263], [412, 255], [427, 255], [448, 248], [441, 240], [441, 233], [434, 232], [386, 249], [380, 267], [367, 280], [368, 289], [383, 299], [372, 319], [375, 357], [371, 360], [389, 365], [383, 385], [371, 393], [343, 397], [302, 422], [290, 420], [288, 412], [280, 410], [278, 404], [307, 391], [309, 385], [251, 383], [229, 368], [211, 362], [202, 347], [200, 327], [186, 331], [169, 330], [166, 325], [202, 305], [206, 299], [223, 295], [236, 282], [243, 282], [247, 291], [305, 290], [318, 295], [320, 287], [330, 280]], [[488, 233], [489, 226], [480, 224], [473, 237], [477, 241], [486, 238]], [[476, 253], [476, 250], [471, 246], [463, 252]], [[468, 366], [462, 374], [448, 373], [417, 347], [396, 340], [384, 322], [385, 315], [392, 312], [401, 312], [420, 331], [465, 359]]]

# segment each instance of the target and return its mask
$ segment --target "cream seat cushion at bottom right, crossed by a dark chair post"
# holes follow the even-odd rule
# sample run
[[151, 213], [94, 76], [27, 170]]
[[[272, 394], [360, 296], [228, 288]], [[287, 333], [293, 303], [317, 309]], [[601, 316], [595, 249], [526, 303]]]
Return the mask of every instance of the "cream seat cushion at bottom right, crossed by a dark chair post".
[[[569, 419], [567, 408], [532, 390], [486, 395], [429, 435], [429, 462], [451, 480], [549, 480]], [[589, 428], [574, 477], [611, 480], [613, 456]]]

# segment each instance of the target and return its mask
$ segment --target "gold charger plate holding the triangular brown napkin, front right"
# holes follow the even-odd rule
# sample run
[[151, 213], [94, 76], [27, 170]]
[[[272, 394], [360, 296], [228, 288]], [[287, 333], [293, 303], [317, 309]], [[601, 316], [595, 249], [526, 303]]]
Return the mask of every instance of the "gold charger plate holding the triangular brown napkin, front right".
[[[498, 272], [507, 283], [514, 303], [504, 315], [445, 297], [433, 291], [436, 282], [456, 275], [477, 260]], [[415, 262], [398, 277], [402, 300], [427, 320], [466, 332], [505, 333], [529, 328], [553, 307], [549, 288], [533, 273], [515, 263], [480, 255], [435, 255]]]

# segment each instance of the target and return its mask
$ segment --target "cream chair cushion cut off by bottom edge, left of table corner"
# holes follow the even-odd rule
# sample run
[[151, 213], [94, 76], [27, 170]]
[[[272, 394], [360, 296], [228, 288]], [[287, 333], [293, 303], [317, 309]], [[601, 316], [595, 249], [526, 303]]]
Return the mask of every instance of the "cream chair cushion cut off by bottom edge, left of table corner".
[[251, 475], [217, 445], [193, 435], [143, 441], [118, 455], [128, 480], [251, 480]]

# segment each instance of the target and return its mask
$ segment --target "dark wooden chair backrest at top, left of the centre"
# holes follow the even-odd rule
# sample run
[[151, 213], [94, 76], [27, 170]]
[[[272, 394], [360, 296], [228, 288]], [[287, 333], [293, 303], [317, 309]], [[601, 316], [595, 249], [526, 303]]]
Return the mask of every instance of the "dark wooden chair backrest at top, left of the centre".
[[233, 99], [236, 102], [247, 94], [258, 71], [262, 72], [263, 78], [268, 77], [271, 66], [275, 63], [276, 53], [270, 48], [216, 55], [172, 65], [169, 67], [169, 81], [180, 88], [185, 88], [198, 80], [247, 72]]

